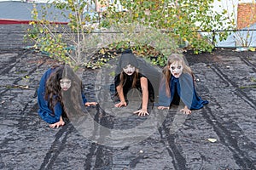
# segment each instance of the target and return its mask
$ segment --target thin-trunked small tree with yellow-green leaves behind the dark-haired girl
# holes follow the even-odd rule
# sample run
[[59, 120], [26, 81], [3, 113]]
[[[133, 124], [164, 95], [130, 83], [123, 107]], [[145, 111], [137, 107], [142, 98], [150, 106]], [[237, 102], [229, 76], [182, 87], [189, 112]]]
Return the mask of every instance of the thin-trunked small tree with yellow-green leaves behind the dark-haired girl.
[[[95, 53], [95, 49], [88, 48], [86, 35], [93, 30], [93, 23], [97, 20], [96, 15], [90, 15], [88, 8], [93, 3], [88, 1], [55, 1], [38, 11], [36, 4], [32, 10], [31, 22], [33, 26], [29, 30], [27, 37], [35, 42], [34, 48], [44, 51], [50, 57], [64, 61], [73, 66], [80, 66], [90, 59], [90, 54]], [[47, 20], [49, 18], [49, 8], [61, 11], [59, 17], [68, 20], [67, 25]], [[38, 17], [38, 13], [42, 17]], [[58, 20], [54, 15], [54, 20]], [[90, 23], [90, 26], [88, 26]]]

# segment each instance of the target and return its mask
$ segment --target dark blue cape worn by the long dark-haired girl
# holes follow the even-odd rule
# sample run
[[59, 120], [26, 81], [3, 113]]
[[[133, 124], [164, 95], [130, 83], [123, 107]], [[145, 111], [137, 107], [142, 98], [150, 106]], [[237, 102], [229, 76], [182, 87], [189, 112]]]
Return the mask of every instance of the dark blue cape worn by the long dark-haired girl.
[[[55, 72], [57, 68], [49, 68], [48, 71], [44, 73], [39, 82], [38, 88], [38, 115], [42, 117], [45, 122], [49, 124], [59, 122], [61, 115], [64, 113], [63, 106], [59, 101], [55, 102], [54, 111], [49, 108], [49, 100], [45, 99], [45, 90], [46, 90], [46, 82], [51, 76], [53, 72]], [[73, 83], [73, 82], [71, 82]], [[55, 96], [56, 97], [56, 96]], [[87, 102], [84, 94], [82, 93], [82, 99], [84, 104]]]

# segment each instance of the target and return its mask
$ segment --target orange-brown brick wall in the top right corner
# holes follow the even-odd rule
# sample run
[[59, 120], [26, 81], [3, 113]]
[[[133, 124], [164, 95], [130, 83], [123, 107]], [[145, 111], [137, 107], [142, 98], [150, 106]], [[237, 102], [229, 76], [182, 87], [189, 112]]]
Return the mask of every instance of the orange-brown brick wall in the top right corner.
[[237, 29], [242, 29], [256, 22], [256, 4], [239, 3], [237, 7]]

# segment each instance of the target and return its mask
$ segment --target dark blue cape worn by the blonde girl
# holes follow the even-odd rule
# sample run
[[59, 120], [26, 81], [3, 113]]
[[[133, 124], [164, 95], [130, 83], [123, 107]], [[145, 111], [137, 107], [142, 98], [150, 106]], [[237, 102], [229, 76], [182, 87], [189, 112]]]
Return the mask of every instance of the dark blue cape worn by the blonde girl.
[[189, 73], [182, 73], [180, 77], [171, 76], [170, 79], [171, 96], [166, 95], [165, 78], [160, 85], [159, 105], [169, 107], [170, 105], [179, 105], [181, 100], [187, 105], [189, 110], [198, 110], [207, 105], [207, 100], [202, 100], [195, 92], [193, 77]]

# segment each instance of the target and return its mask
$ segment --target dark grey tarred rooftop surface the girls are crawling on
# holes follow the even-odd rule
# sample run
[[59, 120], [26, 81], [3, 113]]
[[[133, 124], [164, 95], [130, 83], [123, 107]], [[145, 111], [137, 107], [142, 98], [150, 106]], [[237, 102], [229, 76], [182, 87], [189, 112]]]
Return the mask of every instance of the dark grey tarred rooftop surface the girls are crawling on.
[[[84, 137], [73, 123], [50, 129], [38, 116], [35, 89], [55, 61], [25, 49], [20, 32], [0, 39], [0, 169], [256, 169], [255, 52], [185, 53], [197, 93], [209, 104], [189, 116], [173, 107], [147, 138], [125, 144], [125, 138], [137, 140], [133, 132], [115, 139], [116, 147]], [[95, 92], [99, 72], [80, 72], [89, 100], [99, 101]], [[125, 113], [128, 118], [117, 118], [97, 109], [88, 108], [88, 113], [112, 129], [129, 130], [150, 117]], [[101, 137], [101, 131], [91, 129]]]

